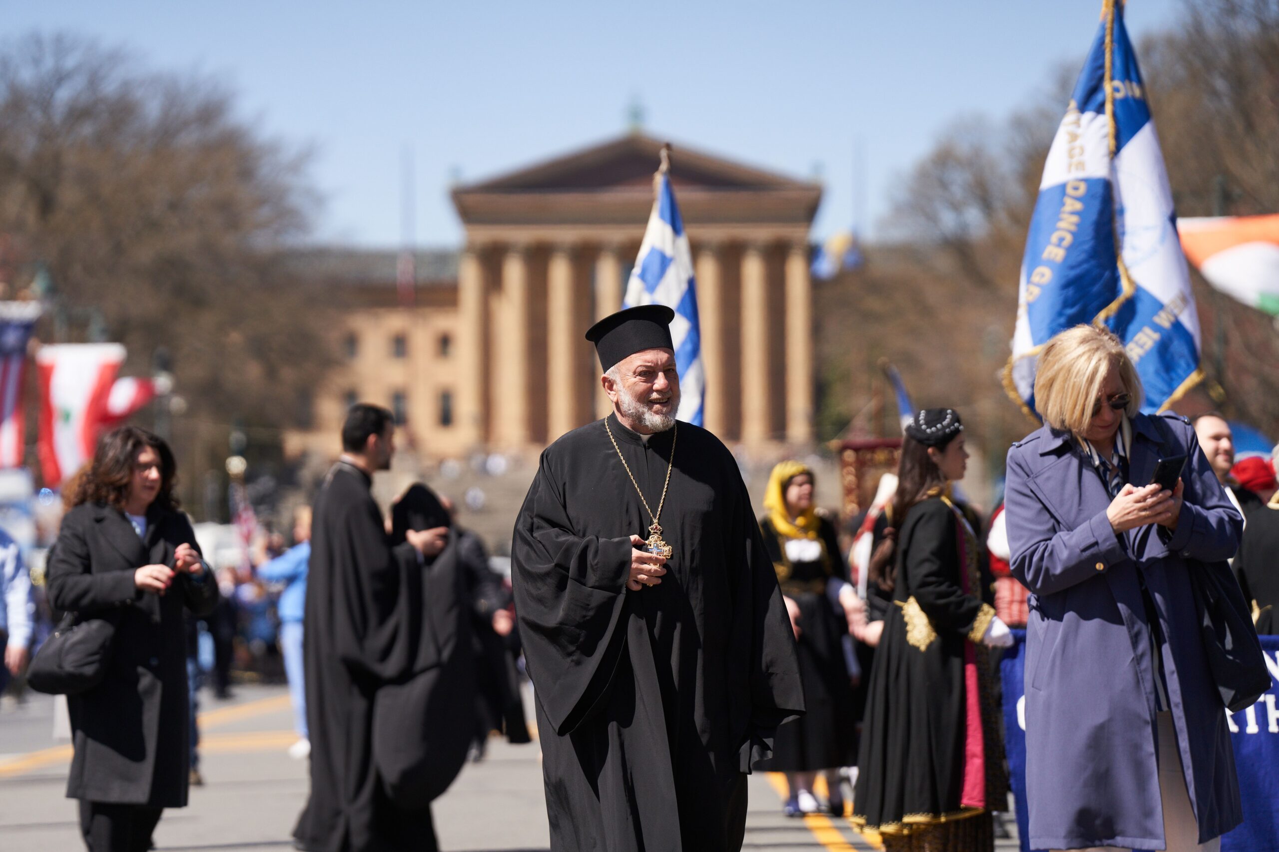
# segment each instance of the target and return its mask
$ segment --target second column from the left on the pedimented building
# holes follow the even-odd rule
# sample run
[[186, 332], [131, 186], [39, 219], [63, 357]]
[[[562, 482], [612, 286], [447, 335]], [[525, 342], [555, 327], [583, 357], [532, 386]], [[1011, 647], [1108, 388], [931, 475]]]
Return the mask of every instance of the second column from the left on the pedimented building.
[[499, 328], [503, 335], [501, 387], [496, 399], [494, 430], [508, 447], [522, 448], [528, 434], [528, 249], [510, 245], [501, 259], [501, 291], [504, 316]]

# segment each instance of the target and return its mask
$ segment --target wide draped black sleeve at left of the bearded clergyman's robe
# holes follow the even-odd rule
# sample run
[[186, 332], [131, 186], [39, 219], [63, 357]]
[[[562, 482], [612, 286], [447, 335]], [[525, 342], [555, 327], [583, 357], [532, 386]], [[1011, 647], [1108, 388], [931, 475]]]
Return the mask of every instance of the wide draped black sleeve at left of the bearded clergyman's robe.
[[565, 734], [602, 704], [625, 648], [632, 548], [629, 536], [574, 531], [551, 466], [544, 452], [510, 556], [524, 655], [542, 682], [555, 683], [537, 699], [555, 732]]

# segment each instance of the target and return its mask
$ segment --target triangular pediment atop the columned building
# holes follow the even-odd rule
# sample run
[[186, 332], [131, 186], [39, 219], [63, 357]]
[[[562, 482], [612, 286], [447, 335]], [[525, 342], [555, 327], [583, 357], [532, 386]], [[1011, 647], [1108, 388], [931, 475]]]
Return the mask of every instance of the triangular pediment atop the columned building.
[[[459, 193], [650, 189], [663, 142], [632, 133], [518, 171], [458, 186]], [[811, 189], [813, 184], [671, 146], [671, 181], [706, 189]]]

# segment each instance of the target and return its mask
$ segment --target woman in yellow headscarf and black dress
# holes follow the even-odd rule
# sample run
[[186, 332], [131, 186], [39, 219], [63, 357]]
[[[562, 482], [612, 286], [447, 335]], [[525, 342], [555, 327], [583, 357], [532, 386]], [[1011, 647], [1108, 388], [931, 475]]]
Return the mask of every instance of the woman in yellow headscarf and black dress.
[[757, 768], [784, 772], [788, 816], [821, 810], [812, 787], [826, 773], [826, 810], [844, 815], [839, 766], [857, 756], [853, 678], [844, 654], [848, 608], [856, 595], [835, 525], [813, 506], [812, 470], [798, 461], [773, 469], [760, 519], [787, 609], [794, 623], [807, 713], [778, 728], [773, 756]]

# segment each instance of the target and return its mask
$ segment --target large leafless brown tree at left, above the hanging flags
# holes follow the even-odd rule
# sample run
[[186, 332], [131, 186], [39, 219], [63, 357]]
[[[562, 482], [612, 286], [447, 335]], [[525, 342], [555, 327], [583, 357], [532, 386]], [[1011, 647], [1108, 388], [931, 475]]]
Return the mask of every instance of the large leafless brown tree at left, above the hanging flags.
[[306, 162], [216, 80], [69, 36], [0, 45], [0, 275], [47, 270], [73, 322], [46, 317], [43, 340], [96, 317], [136, 373], [166, 347], [191, 420], [286, 425], [327, 364], [285, 262], [317, 202]]

